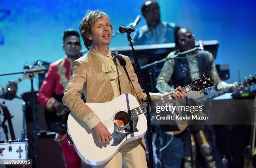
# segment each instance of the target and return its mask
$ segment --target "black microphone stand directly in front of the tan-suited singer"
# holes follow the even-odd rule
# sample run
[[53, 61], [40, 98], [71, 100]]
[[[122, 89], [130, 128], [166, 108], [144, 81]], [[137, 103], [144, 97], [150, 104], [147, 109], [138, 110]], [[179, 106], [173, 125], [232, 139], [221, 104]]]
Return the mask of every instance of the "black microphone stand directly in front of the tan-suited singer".
[[150, 113], [149, 113], [149, 106], [151, 106], [151, 97], [149, 95], [148, 89], [146, 88], [143, 76], [141, 75], [141, 66], [138, 63], [138, 59], [137, 59], [137, 56], [136, 56], [134, 48], [133, 48], [133, 43], [131, 42], [132, 38], [130, 36], [130, 33], [127, 33], [127, 39], [130, 42], [130, 44], [131, 44], [131, 48], [132, 48], [133, 55], [134, 55], [134, 58], [135, 58], [135, 65], [134, 66], [135, 66], [136, 69], [138, 69], [139, 76], [141, 78], [141, 81], [142, 81], [142, 84], [143, 84], [143, 88], [144, 88], [143, 92], [146, 93], [146, 95], [147, 95], [147, 99], [146, 99], [147, 105], [146, 105], [146, 108], [147, 108], [147, 126], [148, 126], [148, 131], [146, 133], [146, 137], [147, 137], [147, 140], [148, 140], [149, 168], [154, 168], [154, 165], [153, 165], [152, 131], [151, 131], [151, 120], [150, 120], [151, 116], [150, 116]]

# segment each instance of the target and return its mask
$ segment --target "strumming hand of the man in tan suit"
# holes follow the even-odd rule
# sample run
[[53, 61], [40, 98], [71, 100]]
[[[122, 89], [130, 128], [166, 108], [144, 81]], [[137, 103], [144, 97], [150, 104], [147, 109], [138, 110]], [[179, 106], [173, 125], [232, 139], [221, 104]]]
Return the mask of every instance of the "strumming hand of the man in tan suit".
[[97, 139], [100, 143], [109, 143], [110, 140], [112, 140], [112, 137], [105, 125], [102, 124], [102, 122], [99, 122], [93, 130], [95, 131], [95, 134], [97, 136]]

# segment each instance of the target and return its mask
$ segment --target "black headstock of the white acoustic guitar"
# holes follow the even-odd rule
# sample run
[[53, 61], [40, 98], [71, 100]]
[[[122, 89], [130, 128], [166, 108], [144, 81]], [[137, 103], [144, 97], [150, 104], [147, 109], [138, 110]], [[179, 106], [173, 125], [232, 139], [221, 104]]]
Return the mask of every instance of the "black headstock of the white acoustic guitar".
[[212, 87], [214, 87], [214, 84], [213, 84], [213, 80], [212, 78], [207, 75], [203, 75], [202, 78], [200, 79], [195, 79], [194, 81], [192, 81], [192, 83], [189, 85], [189, 87], [191, 88], [191, 90], [195, 90], [197, 92], [203, 90], [203, 89], [207, 89], [207, 88], [210, 88], [212, 89]]

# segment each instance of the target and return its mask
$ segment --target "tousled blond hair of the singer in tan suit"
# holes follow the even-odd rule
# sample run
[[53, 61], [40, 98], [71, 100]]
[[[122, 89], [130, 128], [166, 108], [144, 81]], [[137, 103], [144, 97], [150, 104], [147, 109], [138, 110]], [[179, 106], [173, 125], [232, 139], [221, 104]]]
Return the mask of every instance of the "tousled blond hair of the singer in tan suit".
[[[110, 18], [107, 13], [102, 12], [101, 10], [88, 10], [79, 25], [79, 31], [84, 41], [84, 46], [88, 50], [92, 49], [92, 40], [88, 39], [88, 37], [92, 35], [92, 25], [99, 18], [103, 17], [106, 17], [110, 21]], [[111, 24], [110, 27], [113, 30], [113, 26]]]

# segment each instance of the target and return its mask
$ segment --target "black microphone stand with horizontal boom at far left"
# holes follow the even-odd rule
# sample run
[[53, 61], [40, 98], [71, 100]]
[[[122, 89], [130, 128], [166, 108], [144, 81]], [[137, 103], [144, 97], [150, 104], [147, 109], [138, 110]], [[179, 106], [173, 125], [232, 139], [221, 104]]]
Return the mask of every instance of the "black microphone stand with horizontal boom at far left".
[[35, 167], [38, 168], [38, 137], [37, 137], [37, 125], [36, 125], [36, 107], [35, 107], [35, 91], [34, 91], [34, 86], [33, 86], [33, 78], [34, 78], [34, 73], [35, 72], [41, 72], [41, 71], [48, 71], [48, 69], [33, 69], [33, 70], [25, 70], [22, 72], [14, 72], [14, 73], [8, 73], [8, 74], [0, 74], [0, 76], [5, 76], [5, 75], [13, 75], [13, 74], [28, 74], [30, 81], [31, 81], [31, 99], [33, 100], [33, 125], [34, 125], [34, 130], [33, 130], [33, 135], [34, 135], [34, 148], [35, 148]]

